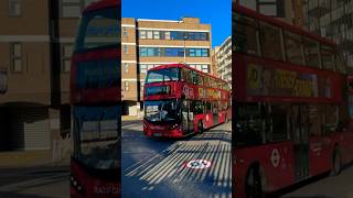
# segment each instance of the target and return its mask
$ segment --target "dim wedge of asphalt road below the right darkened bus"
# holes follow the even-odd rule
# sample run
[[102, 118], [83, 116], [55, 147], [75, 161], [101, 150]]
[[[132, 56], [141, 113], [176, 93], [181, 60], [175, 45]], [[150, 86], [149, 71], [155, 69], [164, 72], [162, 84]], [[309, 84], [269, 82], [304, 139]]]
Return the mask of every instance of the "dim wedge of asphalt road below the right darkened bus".
[[353, 166], [347, 166], [338, 176], [323, 175], [299, 187], [281, 198], [353, 198]]

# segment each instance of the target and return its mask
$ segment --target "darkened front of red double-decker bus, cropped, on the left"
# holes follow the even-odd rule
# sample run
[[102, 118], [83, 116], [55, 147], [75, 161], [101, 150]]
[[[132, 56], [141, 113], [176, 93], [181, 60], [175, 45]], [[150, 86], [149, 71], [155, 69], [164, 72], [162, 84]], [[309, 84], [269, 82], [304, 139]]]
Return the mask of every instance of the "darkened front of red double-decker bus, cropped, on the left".
[[71, 67], [71, 197], [120, 193], [120, 0], [82, 15]]

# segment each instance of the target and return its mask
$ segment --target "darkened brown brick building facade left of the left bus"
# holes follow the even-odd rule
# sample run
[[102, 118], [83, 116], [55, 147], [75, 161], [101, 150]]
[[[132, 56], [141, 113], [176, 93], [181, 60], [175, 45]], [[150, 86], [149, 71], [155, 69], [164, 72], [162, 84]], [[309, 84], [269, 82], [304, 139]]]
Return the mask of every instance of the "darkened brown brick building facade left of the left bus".
[[[6, 118], [0, 120], [0, 151], [52, 148], [53, 142], [57, 142], [61, 134], [69, 132], [71, 128], [67, 62], [64, 68], [64, 61], [69, 61], [69, 56], [64, 58], [64, 51], [66, 54], [72, 52], [81, 13], [64, 16], [63, 8], [57, 8], [62, 65], [56, 75], [60, 75], [61, 103], [53, 107], [50, 1], [22, 0], [15, 7], [11, 2], [0, 1], [0, 69], [7, 72], [7, 91], [0, 94], [0, 118]], [[74, 6], [83, 9], [86, 4]], [[33, 143], [39, 144], [39, 147], [33, 147], [31, 142], [21, 143], [21, 139], [32, 141], [29, 136], [34, 131], [42, 131], [45, 135], [41, 140], [43, 145]]]

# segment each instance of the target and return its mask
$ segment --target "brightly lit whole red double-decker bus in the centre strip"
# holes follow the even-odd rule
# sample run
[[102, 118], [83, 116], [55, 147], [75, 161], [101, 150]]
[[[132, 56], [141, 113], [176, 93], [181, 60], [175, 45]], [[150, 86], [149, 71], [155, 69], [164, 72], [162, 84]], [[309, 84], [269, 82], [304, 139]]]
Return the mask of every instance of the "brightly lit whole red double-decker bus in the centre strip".
[[232, 118], [226, 81], [184, 64], [161, 65], [147, 73], [143, 132], [181, 138]]

